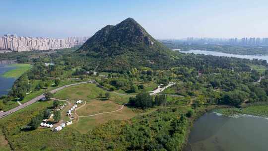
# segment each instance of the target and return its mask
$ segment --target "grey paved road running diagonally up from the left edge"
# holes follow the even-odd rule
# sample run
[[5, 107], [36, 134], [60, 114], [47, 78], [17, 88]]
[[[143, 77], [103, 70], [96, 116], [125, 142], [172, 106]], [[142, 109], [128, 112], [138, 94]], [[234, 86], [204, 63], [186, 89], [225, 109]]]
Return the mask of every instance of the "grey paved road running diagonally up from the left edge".
[[[57, 91], [59, 91], [59, 90], [62, 90], [62, 89], [64, 89], [64, 88], [66, 88], [66, 87], [69, 87], [69, 86], [74, 86], [74, 85], [79, 85], [79, 84], [84, 84], [84, 83], [91, 83], [91, 82], [93, 82], [93, 80], [85, 81], [85, 82], [79, 82], [79, 83], [73, 83], [73, 84], [68, 84], [68, 85], [64, 85], [64, 86], [62, 86], [62, 87], [58, 87], [58, 88], [56, 88], [56, 89], [54, 89], [54, 90], [51, 90], [50, 92], [51, 92], [51, 93], [55, 93], [55, 92], [57, 92]], [[26, 103], [24, 103], [24, 104], [22, 104], [22, 105], [19, 105], [19, 106], [15, 107], [15, 108], [13, 108], [13, 109], [11, 109], [11, 110], [8, 110], [8, 111], [6, 111], [6, 112], [0, 113], [0, 119], [3, 118], [3, 117], [6, 117], [6, 116], [9, 115], [9, 114], [12, 114], [12, 113], [14, 113], [14, 112], [16, 112], [16, 111], [18, 111], [18, 110], [20, 110], [20, 109], [22, 109], [22, 108], [24, 108], [24, 107], [26, 107], [26, 106], [28, 106], [28, 105], [30, 105], [30, 104], [33, 104], [33, 103], [35, 103], [36, 101], [39, 101], [39, 100], [40, 100], [41, 98], [43, 98], [43, 97], [45, 97], [44, 94], [41, 94], [41, 95], [39, 95], [39, 96], [37, 96], [37, 97], [35, 97], [35, 98], [29, 100], [28, 102], [26, 102]]]

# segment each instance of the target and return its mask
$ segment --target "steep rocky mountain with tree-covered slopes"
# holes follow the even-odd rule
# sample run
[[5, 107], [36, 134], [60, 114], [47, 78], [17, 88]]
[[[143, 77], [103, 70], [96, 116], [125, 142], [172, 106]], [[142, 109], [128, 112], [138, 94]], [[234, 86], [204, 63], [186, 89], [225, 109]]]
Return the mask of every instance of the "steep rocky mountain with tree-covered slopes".
[[[75, 53], [90, 58], [100, 71], [122, 71], [134, 67], [168, 68], [174, 52], [155, 40], [133, 18], [107, 25], [89, 38]], [[96, 65], [94, 65], [96, 66]]]

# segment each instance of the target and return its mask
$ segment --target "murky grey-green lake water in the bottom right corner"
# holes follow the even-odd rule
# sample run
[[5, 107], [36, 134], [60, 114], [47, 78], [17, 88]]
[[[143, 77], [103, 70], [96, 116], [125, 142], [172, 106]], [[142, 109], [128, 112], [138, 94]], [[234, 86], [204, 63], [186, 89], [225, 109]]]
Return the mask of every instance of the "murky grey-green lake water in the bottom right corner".
[[184, 151], [268, 151], [268, 119], [206, 113], [195, 122]]

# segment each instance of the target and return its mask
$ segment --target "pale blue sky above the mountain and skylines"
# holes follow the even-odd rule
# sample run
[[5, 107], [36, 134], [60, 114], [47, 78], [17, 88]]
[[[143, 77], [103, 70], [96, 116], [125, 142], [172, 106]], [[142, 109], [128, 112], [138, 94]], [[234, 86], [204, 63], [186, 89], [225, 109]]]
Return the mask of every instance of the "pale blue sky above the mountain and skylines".
[[92, 36], [128, 17], [157, 39], [268, 37], [268, 0], [1, 0], [0, 35]]

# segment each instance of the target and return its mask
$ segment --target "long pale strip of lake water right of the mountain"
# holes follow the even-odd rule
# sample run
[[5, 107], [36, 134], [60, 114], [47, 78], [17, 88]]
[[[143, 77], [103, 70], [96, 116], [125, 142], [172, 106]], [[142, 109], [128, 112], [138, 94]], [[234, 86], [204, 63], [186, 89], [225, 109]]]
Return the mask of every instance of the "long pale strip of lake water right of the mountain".
[[204, 54], [204, 55], [213, 55], [213, 56], [223, 56], [223, 57], [236, 57], [236, 58], [245, 58], [245, 59], [262, 59], [268, 61], [267, 55], [235, 55], [235, 54], [227, 54], [222, 52], [215, 51], [205, 51], [205, 50], [189, 50], [189, 51], [180, 51], [182, 53], [194, 53], [194, 54]]

